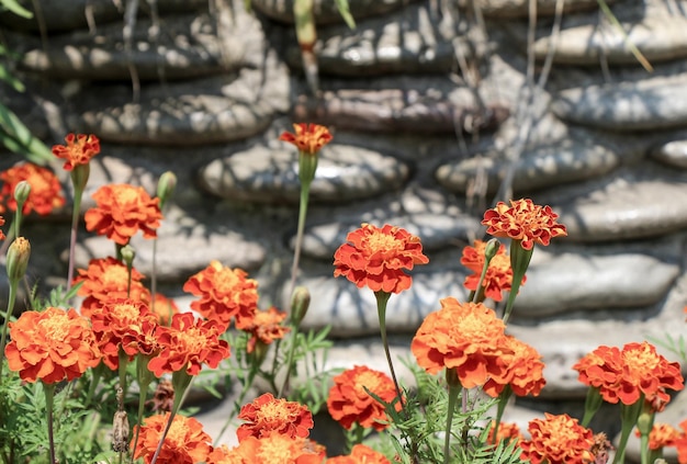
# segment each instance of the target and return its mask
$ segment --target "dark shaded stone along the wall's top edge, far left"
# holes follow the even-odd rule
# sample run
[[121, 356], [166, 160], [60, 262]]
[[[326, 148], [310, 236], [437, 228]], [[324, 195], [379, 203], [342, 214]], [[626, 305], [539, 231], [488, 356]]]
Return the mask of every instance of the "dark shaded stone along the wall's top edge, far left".
[[[24, 19], [7, 11], [0, 14], [0, 24], [19, 31], [64, 32], [86, 29], [89, 22], [98, 29], [103, 23], [124, 16], [124, 4], [112, 0], [35, 0], [22, 1], [22, 5], [34, 12], [32, 19]], [[156, 0], [157, 13], [181, 13], [207, 11], [209, 0]], [[38, 9], [34, 9], [37, 4]], [[138, 16], [150, 16], [149, 2], [138, 1]]]

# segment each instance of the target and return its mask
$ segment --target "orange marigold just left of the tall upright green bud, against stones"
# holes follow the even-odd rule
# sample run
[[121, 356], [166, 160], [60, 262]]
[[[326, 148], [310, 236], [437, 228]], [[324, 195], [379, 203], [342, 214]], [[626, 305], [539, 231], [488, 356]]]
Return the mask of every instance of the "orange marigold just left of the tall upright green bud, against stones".
[[126, 245], [138, 231], [144, 238], [157, 237], [162, 213], [159, 199], [151, 199], [143, 186], [126, 183], [103, 185], [93, 193], [95, 207], [86, 212], [86, 228]]

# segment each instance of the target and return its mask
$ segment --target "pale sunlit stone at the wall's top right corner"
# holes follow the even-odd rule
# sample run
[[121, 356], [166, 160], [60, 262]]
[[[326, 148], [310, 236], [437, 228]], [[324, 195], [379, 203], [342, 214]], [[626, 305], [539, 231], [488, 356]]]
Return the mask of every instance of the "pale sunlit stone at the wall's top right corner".
[[[672, 60], [687, 56], [687, 19], [679, 15], [643, 18], [623, 24], [629, 42], [634, 44], [649, 60]], [[553, 36], [541, 37], [534, 43], [534, 56], [544, 59], [553, 43]], [[626, 35], [615, 25], [587, 24], [561, 31], [555, 38], [554, 63], [566, 65], [599, 66], [633, 65], [637, 58], [626, 45]]]

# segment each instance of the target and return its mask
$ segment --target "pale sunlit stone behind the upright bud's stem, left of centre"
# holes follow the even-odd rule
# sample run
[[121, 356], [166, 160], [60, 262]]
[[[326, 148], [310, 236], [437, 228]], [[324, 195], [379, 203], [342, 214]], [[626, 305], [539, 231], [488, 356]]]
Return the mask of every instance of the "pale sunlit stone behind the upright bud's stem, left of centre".
[[[136, 251], [134, 267], [146, 278], [153, 272], [153, 240], [136, 234], [131, 245]], [[66, 254], [63, 253], [63, 256]], [[89, 260], [114, 256], [114, 246], [105, 237], [92, 236], [77, 247], [77, 267], [86, 269]], [[217, 260], [229, 268], [255, 271], [266, 261], [267, 250], [247, 239], [226, 217], [191, 217], [172, 208], [158, 229], [156, 269], [160, 282], [184, 282], [192, 274]]]

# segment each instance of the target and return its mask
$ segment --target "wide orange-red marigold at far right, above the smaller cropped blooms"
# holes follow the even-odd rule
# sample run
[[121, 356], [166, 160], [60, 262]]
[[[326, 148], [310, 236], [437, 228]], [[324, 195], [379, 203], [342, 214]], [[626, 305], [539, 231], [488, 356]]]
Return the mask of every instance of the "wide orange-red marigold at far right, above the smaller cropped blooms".
[[649, 342], [628, 343], [622, 351], [601, 346], [573, 369], [579, 373], [579, 382], [598, 388], [604, 400], [612, 404], [633, 405], [644, 395], [661, 410], [671, 399], [666, 388], [684, 387], [679, 364], [668, 362]]

